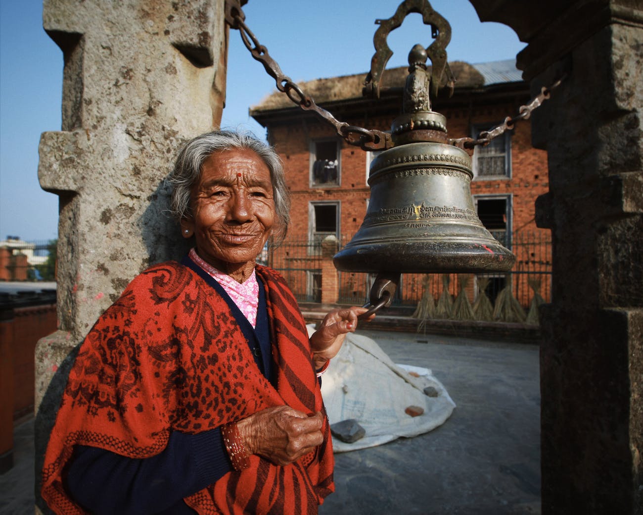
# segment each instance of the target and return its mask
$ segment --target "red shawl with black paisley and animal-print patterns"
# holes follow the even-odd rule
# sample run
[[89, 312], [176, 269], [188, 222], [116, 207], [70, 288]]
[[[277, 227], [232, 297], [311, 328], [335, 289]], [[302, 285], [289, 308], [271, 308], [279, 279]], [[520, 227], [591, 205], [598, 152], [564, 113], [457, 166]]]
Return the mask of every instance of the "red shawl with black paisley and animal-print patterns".
[[[286, 404], [323, 411], [303, 317], [283, 277], [257, 266], [266, 286], [277, 388], [257, 368], [228, 304], [175, 262], [136, 277], [98, 319], [69, 374], [44, 458], [42, 497], [59, 514], [82, 514], [62, 470], [73, 446], [147, 458], [170, 431], [199, 433]], [[186, 498], [200, 514], [312, 514], [334, 490], [328, 420], [314, 453], [280, 467], [251, 467]]]

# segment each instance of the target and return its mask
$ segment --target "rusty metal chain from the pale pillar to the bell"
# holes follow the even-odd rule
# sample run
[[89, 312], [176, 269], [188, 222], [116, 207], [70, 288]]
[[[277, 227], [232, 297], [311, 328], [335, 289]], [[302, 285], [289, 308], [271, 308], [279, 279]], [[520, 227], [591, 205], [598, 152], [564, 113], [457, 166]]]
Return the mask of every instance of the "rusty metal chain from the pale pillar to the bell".
[[[228, 0], [230, 2], [230, 0]], [[361, 147], [363, 150], [385, 150], [392, 147], [391, 135], [375, 129], [364, 129], [340, 122], [329, 111], [320, 108], [311, 97], [306, 95], [302, 89], [287, 75], [284, 75], [277, 62], [270, 57], [265, 46], [260, 44], [257, 37], [251, 32], [246, 23], [240, 6], [230, 2], [233, 9], [230, 11], [231, 20], [227, 20], [232, 28], [239, 29], [241, 39], [251, 53], [253, 59], [264, 65], [268, 75], [275, 79], [276, 88], [285, 93], [295, 104], [305, 111], [314, 111], [321, 118], [335, 127], [340, 135], [350, 145]]]

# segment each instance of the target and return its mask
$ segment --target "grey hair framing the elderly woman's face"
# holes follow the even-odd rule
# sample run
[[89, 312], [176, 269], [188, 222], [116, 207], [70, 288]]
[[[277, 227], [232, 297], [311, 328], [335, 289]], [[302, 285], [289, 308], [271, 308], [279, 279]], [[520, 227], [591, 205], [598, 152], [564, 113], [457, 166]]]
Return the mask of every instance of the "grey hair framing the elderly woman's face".
[[190, 191], [201, 176], [203, 163], [215, 152], [233, 149], [254, 152], [268, 167], [278, 225], [275, 240], [280, 243], [285, 238], [290, 223], [290, 194], [285, 185], [284, 167], [273, 147], [248, 133], [213, 131], [197, 136], [183, 146], [176, 158], [174, 170], [168, 177], [172, 184], [170, 213], [179, 221], [192, 216]]

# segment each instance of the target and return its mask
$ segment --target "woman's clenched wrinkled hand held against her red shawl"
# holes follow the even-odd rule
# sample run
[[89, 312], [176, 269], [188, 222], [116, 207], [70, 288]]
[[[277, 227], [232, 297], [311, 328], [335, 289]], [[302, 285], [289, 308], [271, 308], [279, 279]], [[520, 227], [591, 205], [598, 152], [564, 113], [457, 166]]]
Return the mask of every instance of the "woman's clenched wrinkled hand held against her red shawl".
[[237, 422], [248, 454], [259, 454], [276, 465], [288, 465], [323, 443], [323, 415], [311, 417], [289, 406], [267, 407]]

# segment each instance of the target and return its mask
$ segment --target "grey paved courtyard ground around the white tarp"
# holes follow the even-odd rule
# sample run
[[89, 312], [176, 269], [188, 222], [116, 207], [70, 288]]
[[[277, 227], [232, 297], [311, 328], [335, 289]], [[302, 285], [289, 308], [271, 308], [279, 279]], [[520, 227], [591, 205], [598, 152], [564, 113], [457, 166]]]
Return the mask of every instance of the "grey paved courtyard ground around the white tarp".
[[[336, 492], [321, 514], [539, 514], [538, 347], [361, 333], [394, 362], [430, 368], [457, 407], [426, 435], [336, 454]], [[16, 427], [14, 445], [0, 514], [32, 514], [33, 419]]]

